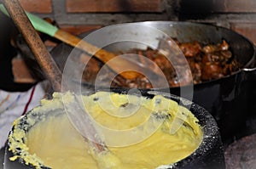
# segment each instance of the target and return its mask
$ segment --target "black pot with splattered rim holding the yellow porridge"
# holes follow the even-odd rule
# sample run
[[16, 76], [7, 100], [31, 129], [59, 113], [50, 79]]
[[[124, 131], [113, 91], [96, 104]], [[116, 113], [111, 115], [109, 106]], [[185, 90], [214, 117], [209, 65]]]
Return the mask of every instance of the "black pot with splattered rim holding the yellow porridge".
[[[126, 94], [128, 93], [128, 90], [122, 90], [122, 91], [111, 91], [112, 93], [121, 93]], [[175, 95], [169, 94], [169, 93], [160, 93], [160, 92], [147, 92], [143, 93], [143, 97], [146, 98], [153, 98], [154, 95], [162, 95], [166, 99], [172, 99], [173, 101], [177, 102], [179, 105], [190, 108], [189, 110], [192, 112], [192, 114], [195, 115], [195, 117], [199, 120], [199, 125], [202, 129], [202, 140], [199, 147], [188, 157], [184, 158], [181, 161], [177, 161], [174, 164], [166, 165], [166, 166], [159, 166], [158, 169], [166, 169], [166, 168], [204, 168], [204, 167], [211, 167], [211, 168], [224, 168], [224, 150], [222, 146], [222, 142], [220, 139], [220, 134], [218, 131], [218, 126], [216, 121], [213, 119], [212, 115], [210, 115], [207, 110], [202, 108], [198, 104], [194, 104], [190, 102], [187, 99], [183, 99], [180, 97], [177, 97]], [[57, 108], [58, 109], [58, 108]], [[52, 109], [52, 110], [57, 110]], [[33, 115], [34, 117], [40, 117], [40, 115], [37, 116], [37, 112], [32, 114], [33, 111], [28, 112], [26, 115], [20, 117], [20, 119], [17, 119], [15, 121], [15, 125], [22, 124], [22, 127], [20, 128], [23, 131], [28, 131], [30, 127], [33, 125], [28, 125], [28, 115]], [[44, 117], [47, 115], [44, 115]], [[42, 117], [42, 115], [41, 115]], [[43, 117], [43, 118], [44, 118]], [[35, 121], [34, 124], [36, 124], [38, 121]], [[20, 127], [20, 126], [19, 126]], [[15, 126], [12, 128], [11, 132], [14, 132]], [[10, 135], [10, 134], [9, 134]], [[9, 137], [10, 139], [10, 137]], [[21, 139], [23, 142], [24, 140]], [[14, 153], [12, 150], [17, 152], [20, 149], [12, 149], [10, 150], [10, 140], [8, 140], [8, 144], [5, 148], [5, 161], [4, 165], [6, 169], [10, 168], [37, 168], [35, 166], [32, 166], [31, 164], [27, 164], [26, 161], [20, 159], [20, 157], [13, 159], [14, 161], [10, 161], [9, 158], [14, 156]], [[41, 164], [38, 164], [38, 168], [44, 168], [47, 169], [49, 167], [42, 166]]]

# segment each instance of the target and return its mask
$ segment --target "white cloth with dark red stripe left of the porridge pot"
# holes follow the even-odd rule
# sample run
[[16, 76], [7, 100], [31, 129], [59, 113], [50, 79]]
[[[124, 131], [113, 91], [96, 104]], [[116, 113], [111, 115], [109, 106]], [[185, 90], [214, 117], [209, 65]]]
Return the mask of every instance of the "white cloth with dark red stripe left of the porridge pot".
[[0, 90], [0, 149], [3, 148], [13, 121], [40, 104], [45, 97], [48, 82], [39, 82], [26, 92]]

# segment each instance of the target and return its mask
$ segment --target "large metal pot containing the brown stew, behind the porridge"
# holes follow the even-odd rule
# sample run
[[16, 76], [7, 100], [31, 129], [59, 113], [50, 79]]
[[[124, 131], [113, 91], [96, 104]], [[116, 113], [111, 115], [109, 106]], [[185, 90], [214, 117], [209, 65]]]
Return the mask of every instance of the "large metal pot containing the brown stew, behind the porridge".
[[[230, 44], [230, 50], [242, 65], [242, 69], [218, 80], [196, 84], [194, 86], [193, 102], [200, 104], [214, 116], [218, 122], [218, 127], [220, 127], [224, 142], [228, 143], [232, 141], [234, 137], [239, 136], [243, 127], [246, 127], [246, 117], [250, 104], [249, 96], [251, 88], [247, 80], [251, 79], [251, 76], [255, 76], [255, 68], [252, 68], [255, 60], [253, 43], [235, 31], [230, 31], [229, 29], [216, 25], [173, 21], [148, 21], [124, 24], [134, 25], [134, 28], [131, 29], [131, 27], [128, 26], [127, 30], [123, 29], [121, 34], [112, 29], [113, 31], [108, 32], [108, 36], [98, 37], [91, 40], [91, 43], [97, 45], [97, 42], [101, 42], [101, 39], [104, 38], [136, 35], [143, 42], [154, 42], [155, 45], [157, 45], [160, 38], [159, 35], [147, 29], [139, 30], [140, 28], [137, 27], [137, 24], [153, 26], [165, 32], [170, 37], [177, 38], [179, 42], [197, 41], [208, 44], [218, 43], [224, 39]], [[112, 27], [114, 28], [115, 25]], [[138, 32], [143, 33], [140, 34]], [[81, 37], [85, 35], [87, 34]], [[123, 46], [118, 46], [118, 48], [112, 47], [108, 49], [116, 52], [125, 51], [130, 48], [135, 48], [134, 44], [127, 43]], [[51, 54], [55, 57], [61, 69], [63, 69], [65, 59], [67, 59], [67, 56], [72, 50], [73, 48], [62, 43], [51, 51]], [[171, 87], [170, 91], [171, 93], [180, 95], [179, 87]]]

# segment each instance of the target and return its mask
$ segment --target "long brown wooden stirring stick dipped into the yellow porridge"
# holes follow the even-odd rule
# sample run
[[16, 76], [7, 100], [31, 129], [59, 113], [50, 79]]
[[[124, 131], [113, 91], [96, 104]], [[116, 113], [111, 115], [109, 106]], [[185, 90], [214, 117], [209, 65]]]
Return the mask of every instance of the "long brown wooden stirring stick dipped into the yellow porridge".
[[[62, 77], [61, 70], [59, 70], [59, 68], [55, 64], [55, 61], [52, 59], [51, 55], [45, 48], [44, 43], [38, 36], [38, 33], [34, 30], [31, 22], [28, 20], [25, 14], [25, 11], [20, 6], [19, 1], [4, 0], [4, 3], [6, 8], [8, 9], [8, 12], [11, 18], [14, 20], [15, 25], [17, 26], [17, 28], [20, 30], [21, 34], [25, 38], [28, 46], [32, 49], [32, 53], [35, 55], [35, 58], [37, 59], [38, 64], [41, 66], [42, 70], [44, 70], [46, 76], [49, 79], [49, 82], [51, 82], [52, 87], [56, 92], [61, 92], [61, 77]], [[75, 100], [78, 101], [78, 99], [76, 98]], [[84, 112], [84, 108], [82, 108], [83, 105], [79, 104], [80, 107], [78, 108], [78, 105], [77, 105], [78, 103], [75, 103], [75, 104], [76, 105], [72, 105], [72, 104], [70, 105], [71, 111], [75, 112], [73, 113], [73, 115], [76, 115], [76, 114], [87, 115], [86, 112]], [[67, 112], [67, 114], [69, 113]], [[74, 122], [74, 119], [77, 120], [77, 117], [71, 115], [70, 120], [73, 122], [73, 125], [78, 125], [78, 123]], [[87, 123], [83, 127], [88, 127], [87, 130], [85, 130], [88, 133], [85, 133], [85, 135], [89, 134], [88, 137], [97, 135], [96, 129], [91, 125], [90, 119], [88, 118], [87, 120], [88, 121], [83, 121], [84, 123]], [[100, 138], [97, 138], [97, 139], [100, 139]], [[104, 145], [101, 140], [97, 140], [97, 142], [90, 141], [90, 139], [87, 139], [87, 140], [90, 146], [92, 146], [92, 149], [94, 149], [96, 153], [101, 153], [106, 151], [109, 152], [107, 146]]]

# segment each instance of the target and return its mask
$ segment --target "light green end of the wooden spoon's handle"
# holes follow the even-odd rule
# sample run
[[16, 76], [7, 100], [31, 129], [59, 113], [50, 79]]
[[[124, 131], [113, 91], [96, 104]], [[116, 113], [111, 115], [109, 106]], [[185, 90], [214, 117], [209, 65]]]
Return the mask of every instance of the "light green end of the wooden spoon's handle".
[[[3, 4], [0, 4], [0, 10], [3, 12], [3, 14], [6, 14], [9, 16], [9, 14], [8, 14], [6, 8], [4, 8]], [[29, 18], [29, 20], [31, 21], [35, 30], [41, 31], [51, 37], [55, 37], [56, 31], [58, 31], [58, 28], [56, 26], [49, 24], [47, 21], [42, 20], [41, 18], [39, 18], [38, 16], [36, 16], [34, 14], [30, 14], [30, 13], [26, 12], [26, 15]]]

